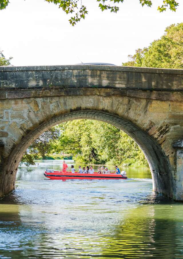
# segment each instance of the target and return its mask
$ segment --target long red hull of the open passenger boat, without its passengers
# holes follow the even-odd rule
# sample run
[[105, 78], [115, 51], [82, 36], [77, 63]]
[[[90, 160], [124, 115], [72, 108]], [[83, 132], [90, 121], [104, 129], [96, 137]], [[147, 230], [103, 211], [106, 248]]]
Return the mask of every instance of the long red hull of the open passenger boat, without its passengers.
[[127, 179], [124, 175], [119, 175], [116, 173], [99, 174], [97, 172], [91, 173], [71, 173], [67, 171], [63, 173], [62, 171], [54, 171], [53, 169], [47, 169], [44, 172], [44, 176], [52, 180], [63, 180], [63, 179]]

